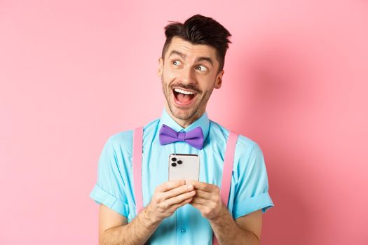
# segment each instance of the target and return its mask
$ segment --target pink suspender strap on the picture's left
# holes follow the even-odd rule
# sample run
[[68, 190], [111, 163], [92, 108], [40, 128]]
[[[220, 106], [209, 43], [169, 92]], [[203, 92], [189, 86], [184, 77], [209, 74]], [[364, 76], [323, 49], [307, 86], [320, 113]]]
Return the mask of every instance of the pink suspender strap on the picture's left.
[[143, 209], [142, 195], [142, 151], [143, 151], [143, 127], [134, 130], [133, 139], [133, 181], [135, 194], [135, 209], [137, 214]]

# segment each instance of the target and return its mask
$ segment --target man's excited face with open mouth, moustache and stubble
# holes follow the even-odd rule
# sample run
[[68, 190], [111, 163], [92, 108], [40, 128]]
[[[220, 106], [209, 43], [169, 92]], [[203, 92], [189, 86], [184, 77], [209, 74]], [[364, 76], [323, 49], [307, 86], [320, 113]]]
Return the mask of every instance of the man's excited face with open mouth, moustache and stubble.
[[191, 123], [199, 118], [205, 112], [212, 90], [221, 87], [224, 71], [218, 69], [214, 48], [172, 38], [158, 67], [168, 112]]

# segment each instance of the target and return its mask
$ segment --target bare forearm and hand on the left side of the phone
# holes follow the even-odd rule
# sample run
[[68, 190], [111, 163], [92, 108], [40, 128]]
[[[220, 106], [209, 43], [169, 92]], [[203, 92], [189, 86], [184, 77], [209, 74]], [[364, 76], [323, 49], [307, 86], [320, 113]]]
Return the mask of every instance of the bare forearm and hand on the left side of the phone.
[[155, 190], [151, 202], [127, 224], [127, 218], [100, 206], [100, 245], [144, 244], [164, 218], [191, 202], [196, 191], [185, 181], [168, 181]]

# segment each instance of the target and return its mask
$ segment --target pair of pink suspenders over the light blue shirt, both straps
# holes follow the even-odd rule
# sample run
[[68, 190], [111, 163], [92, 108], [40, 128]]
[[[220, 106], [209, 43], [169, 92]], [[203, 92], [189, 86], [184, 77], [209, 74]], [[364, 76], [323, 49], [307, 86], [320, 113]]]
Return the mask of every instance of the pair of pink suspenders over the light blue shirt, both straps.
[[[238, 134], [230, 132], [229, 139], [226, 143], [224, 169], [222, 170], [222, 183], [221, 183], [221, 200], [227, 207], [229, 202], [229, 193], [231, 185], [231, 177], [233, 175], [233, 162], [236, 141], [238, 140]], [[135, 193], [135, 205], [137, 214], [143, 209], [143, 195], [142, 195], [142, 146], [143, 146], [143, 127], [138, 127], [134, 130], [133, 139], [133, 181], [134, 181], [134, 193]], [[216, 237], [213, 236], [213, 244], [219, 244]]]

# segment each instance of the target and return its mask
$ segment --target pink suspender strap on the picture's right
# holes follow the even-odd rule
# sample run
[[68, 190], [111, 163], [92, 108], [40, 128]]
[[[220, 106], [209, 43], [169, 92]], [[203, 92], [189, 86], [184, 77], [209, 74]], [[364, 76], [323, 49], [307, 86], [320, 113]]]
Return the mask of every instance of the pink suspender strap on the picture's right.
[[[224, 168], [222, 170], [222, 183], [220, 190], [221, 200], [226, 205], [226, 207], [229, 202], [231, 177], [233, 176], [235, 147], [236, 141], [238, 141], [238, 136], [239, 135], [236, 134], [235, 132], [230, 132], [229, 139], [226, 142], [225, 160], [224, 160]], [[213, 245], [219, 244], [214, 234], [212, 243]]]

